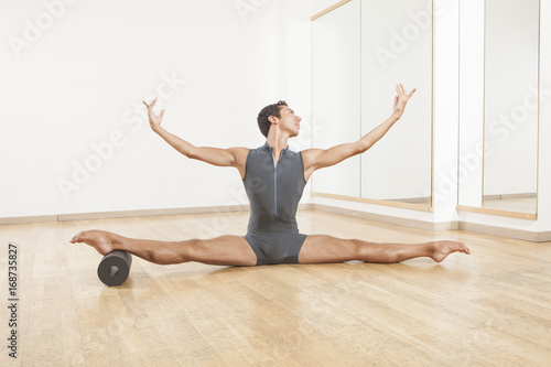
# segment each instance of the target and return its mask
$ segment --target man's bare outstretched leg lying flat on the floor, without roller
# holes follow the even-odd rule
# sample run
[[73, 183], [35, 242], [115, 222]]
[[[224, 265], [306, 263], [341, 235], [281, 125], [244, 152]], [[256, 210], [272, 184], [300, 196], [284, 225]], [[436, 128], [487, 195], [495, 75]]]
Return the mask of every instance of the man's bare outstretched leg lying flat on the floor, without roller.
[[471, 253], [465, 245], [455, 241], [376, 244], [359, 239], [341, 239], [325, 235], [313, 235], [307, 236], [304, 240], [299, 253], [299, 262], [320, 263], [360, 260], [392, 263], [419, 257], [430, 257], [440, 262], [450, 253], [457, 251]]

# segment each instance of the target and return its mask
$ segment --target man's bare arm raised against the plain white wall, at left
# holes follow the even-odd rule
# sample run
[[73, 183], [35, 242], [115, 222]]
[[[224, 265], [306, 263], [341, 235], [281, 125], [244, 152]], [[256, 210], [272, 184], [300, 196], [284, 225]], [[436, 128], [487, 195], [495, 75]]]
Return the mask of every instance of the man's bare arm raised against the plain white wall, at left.
[[218, 166], [235, 166], [239, 169], [239, 171], [245, 168], [245, 159], [248, 151], [246, 148], [219, 149], [210, 147], [195, 147], [161, 127], [164, 109], [159, 115], [153, 112], [153, 106], [156, 104], [156, 98], [150, 105], [145, 101], [143, 101], [143, 104], [148, 108], [148, 117], [151, 129], [180, 153], [190, 159], [199, 160]]

